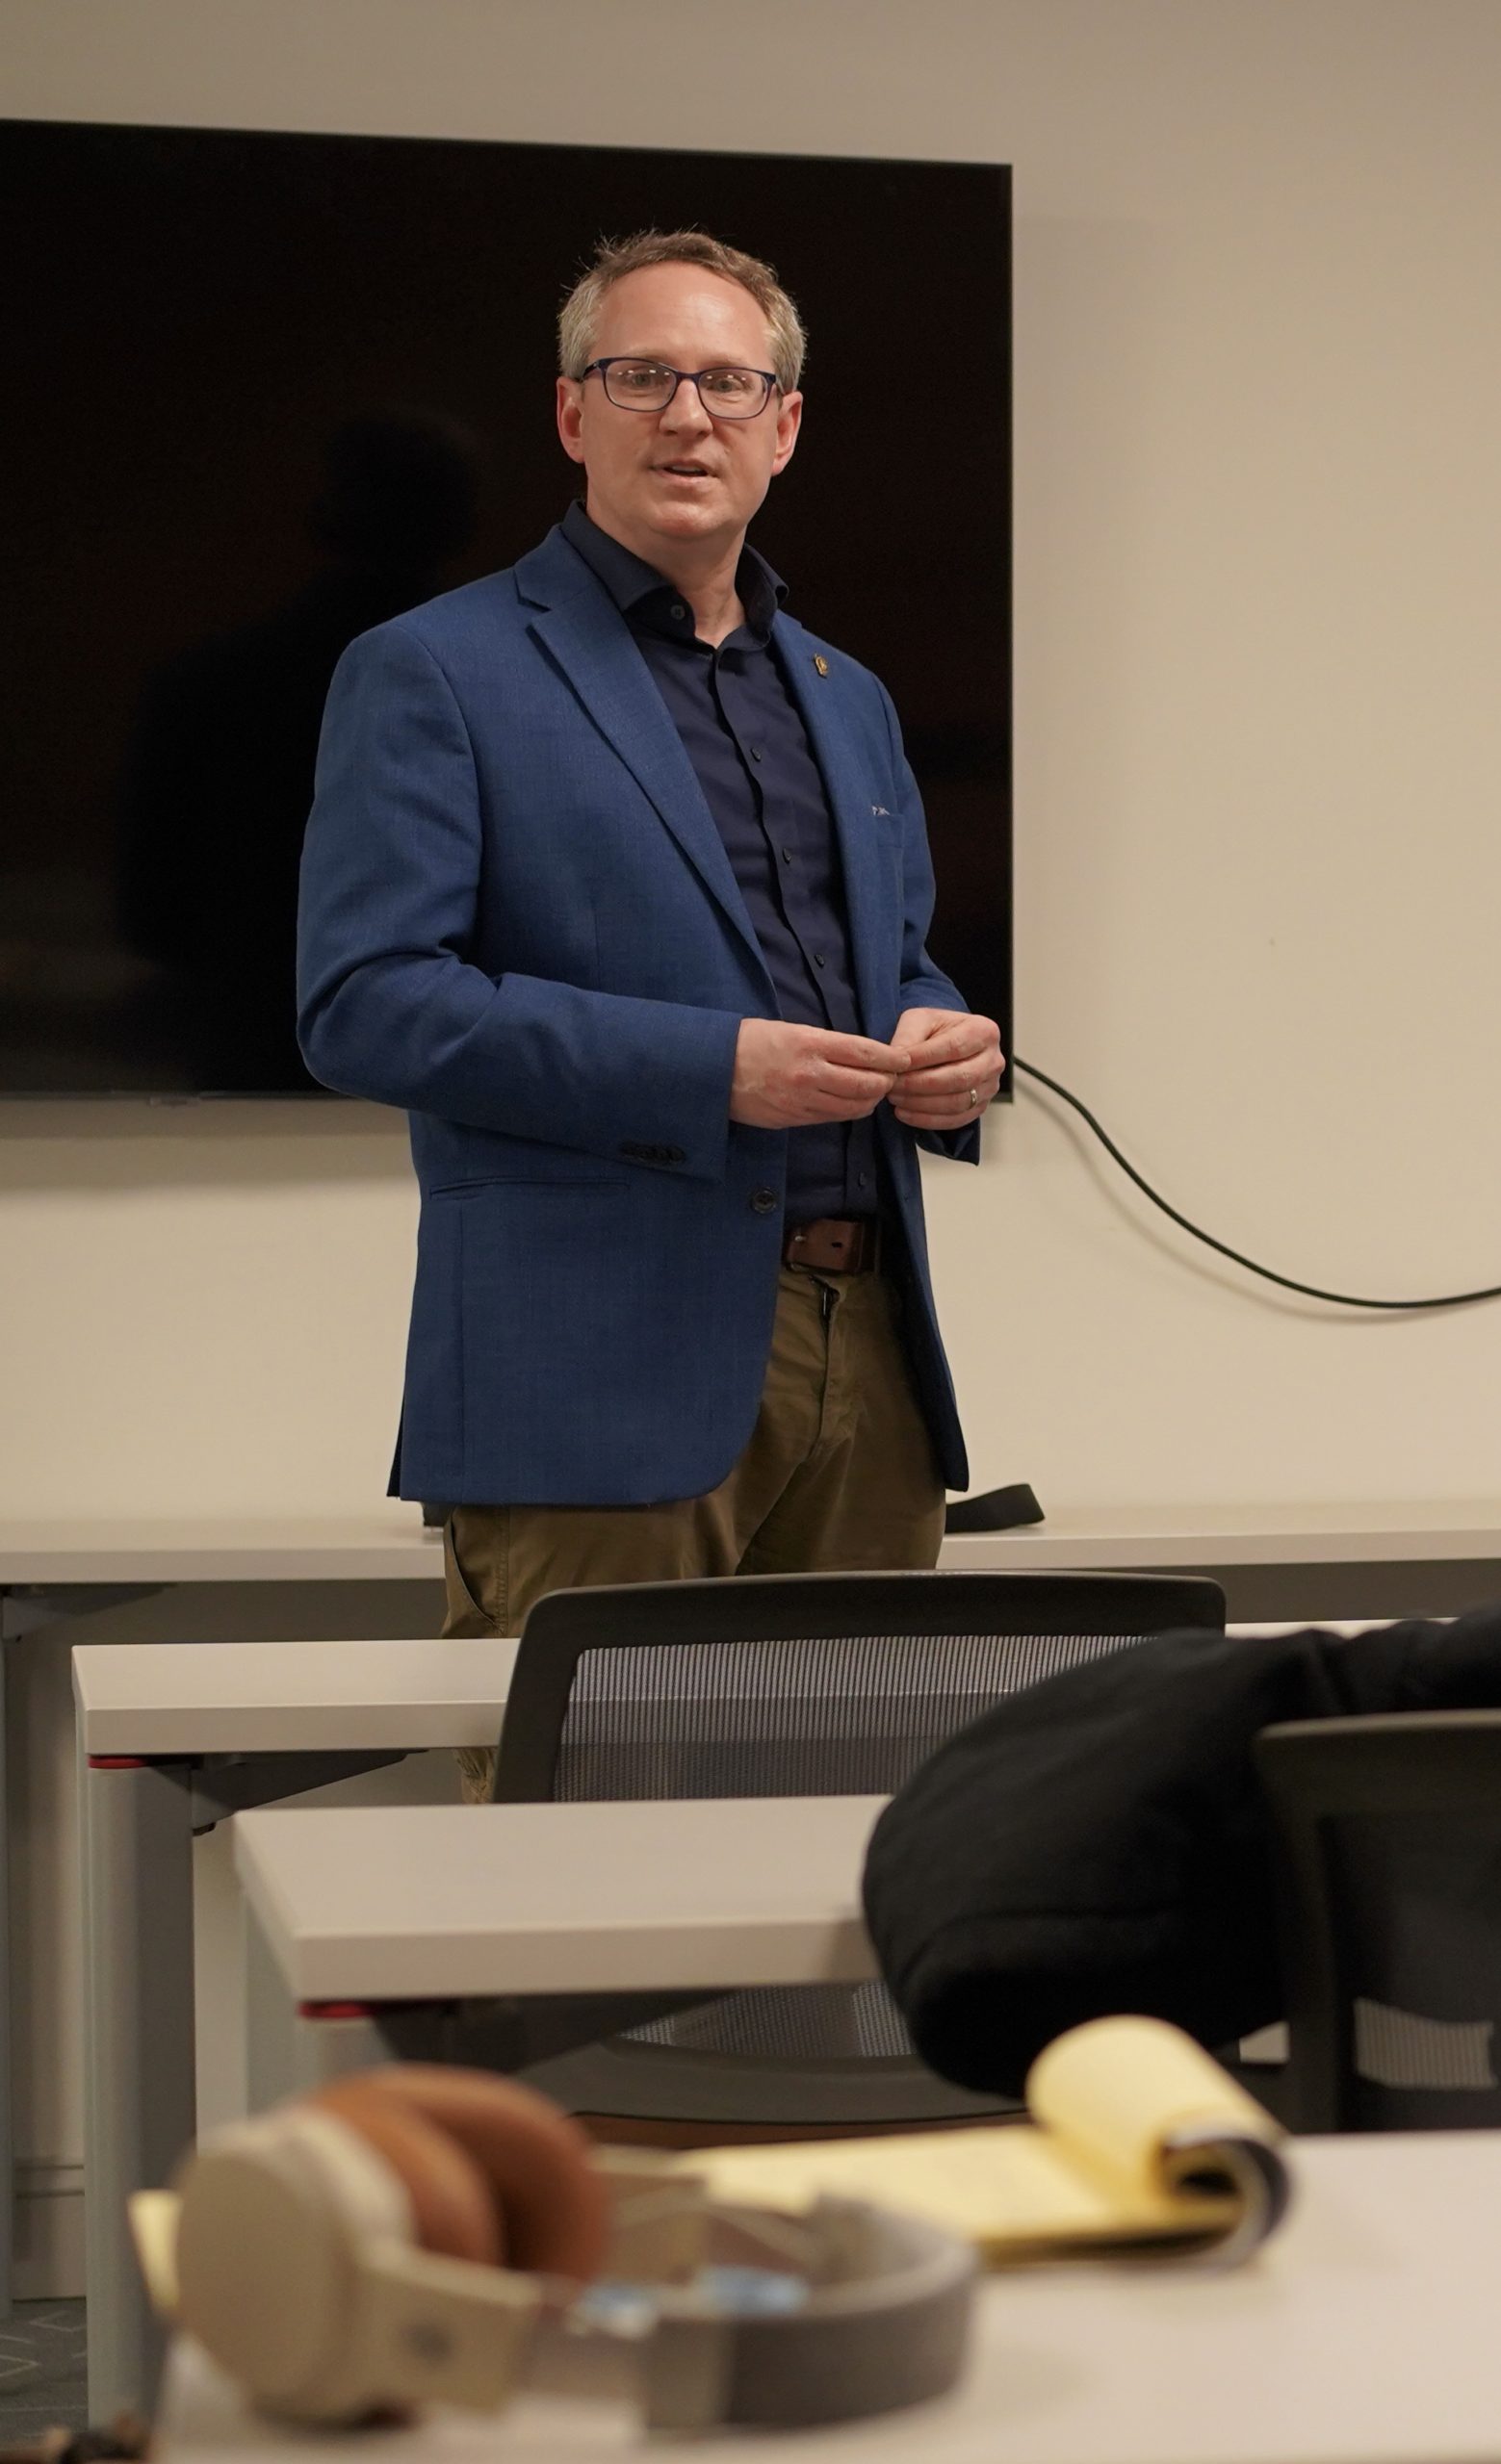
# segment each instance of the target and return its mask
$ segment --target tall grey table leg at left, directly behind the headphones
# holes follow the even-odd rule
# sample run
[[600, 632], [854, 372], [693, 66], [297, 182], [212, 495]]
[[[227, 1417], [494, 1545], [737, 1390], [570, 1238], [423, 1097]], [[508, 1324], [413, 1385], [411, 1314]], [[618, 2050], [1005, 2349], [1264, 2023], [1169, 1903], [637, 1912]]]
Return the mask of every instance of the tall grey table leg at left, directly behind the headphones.
[[192, 2141], [192, 1767], [84, 1762], [84, 2264], [89, 2417], [150, 2412], [163, 2333], [128, 2198]]

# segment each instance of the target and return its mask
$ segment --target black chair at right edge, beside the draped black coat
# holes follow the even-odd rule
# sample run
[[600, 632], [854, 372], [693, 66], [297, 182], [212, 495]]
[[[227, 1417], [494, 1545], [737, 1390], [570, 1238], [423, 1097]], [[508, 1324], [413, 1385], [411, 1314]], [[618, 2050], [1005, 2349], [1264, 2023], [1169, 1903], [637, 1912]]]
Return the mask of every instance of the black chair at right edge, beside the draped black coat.
[[1292, 1720], [1255, 1757], [1294, 2124], [1501, 2122], [1501, 1710]]

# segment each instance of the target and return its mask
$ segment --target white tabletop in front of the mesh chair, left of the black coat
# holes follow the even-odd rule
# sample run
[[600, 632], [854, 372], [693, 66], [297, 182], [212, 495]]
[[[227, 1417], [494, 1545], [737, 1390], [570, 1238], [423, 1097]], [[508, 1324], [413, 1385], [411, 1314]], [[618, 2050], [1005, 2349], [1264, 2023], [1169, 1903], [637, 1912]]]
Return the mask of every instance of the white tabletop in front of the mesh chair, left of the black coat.
[[264, 1806], [234, 1865], [293, 2001], [855, 1981], [882, 1804]]

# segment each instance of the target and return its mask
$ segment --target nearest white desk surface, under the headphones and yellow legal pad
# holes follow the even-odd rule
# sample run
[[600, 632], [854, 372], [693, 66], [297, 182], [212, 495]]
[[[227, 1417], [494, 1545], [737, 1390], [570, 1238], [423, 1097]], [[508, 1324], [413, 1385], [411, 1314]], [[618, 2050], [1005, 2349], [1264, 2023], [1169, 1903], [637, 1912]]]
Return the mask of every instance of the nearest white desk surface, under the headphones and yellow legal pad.
[[[542, 2405], [434, 2412], [343, 2439], [345, 2464], [1496, 2464], [1501, 2131], [1301, 2139], [1282, 2232], [1232, 2274], [1035, 2269], [981, 2289], [961, 2388], [875, 2422], [695, 2442], [572, 2430]], [[158, 2464], [328, 2439], [244, 2415], [192, 2346], [170, 2358]]]

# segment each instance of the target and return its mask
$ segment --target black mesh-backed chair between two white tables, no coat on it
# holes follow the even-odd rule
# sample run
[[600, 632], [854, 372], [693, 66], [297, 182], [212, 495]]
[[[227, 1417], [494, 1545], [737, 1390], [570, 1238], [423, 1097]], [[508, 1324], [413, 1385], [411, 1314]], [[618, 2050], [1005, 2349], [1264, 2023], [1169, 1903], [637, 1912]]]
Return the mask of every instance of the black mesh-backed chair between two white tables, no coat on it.
[[[890, 1794], [1003, 1695], [1225, 1594], [1156, 1574], [754, 1574], [552, 1592], [525, 1621], [493, 1796]], [[537, 2065], [574, 2112], [875, 2126], [996, 2112], [912, 2053], [880, 1981], [752, 1988]]]

